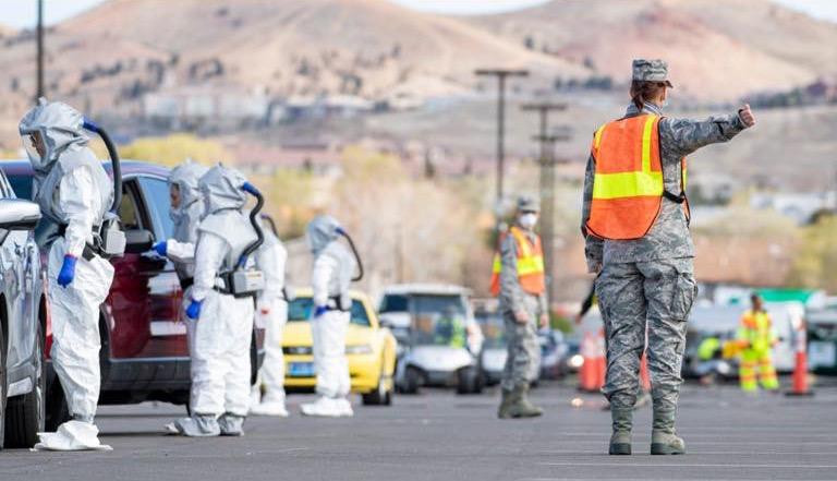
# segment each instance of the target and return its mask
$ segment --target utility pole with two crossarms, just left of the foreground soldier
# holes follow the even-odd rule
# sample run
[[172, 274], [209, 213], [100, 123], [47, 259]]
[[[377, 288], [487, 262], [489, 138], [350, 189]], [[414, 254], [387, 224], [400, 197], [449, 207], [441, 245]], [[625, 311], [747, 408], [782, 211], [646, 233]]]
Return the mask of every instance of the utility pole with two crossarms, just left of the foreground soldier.
[[533, 137], [541, 144], [538, 165], [541, 166], [541, 239], [544, 245], [547, 291], [549, 299], [555, 299], [555, 144], [569, 140], [567, 134], [549, 133], [549, 112], [560, 111], [567, 104], [526, 104], [524, 111], [536, 111], [539, 117], [539, 132]]

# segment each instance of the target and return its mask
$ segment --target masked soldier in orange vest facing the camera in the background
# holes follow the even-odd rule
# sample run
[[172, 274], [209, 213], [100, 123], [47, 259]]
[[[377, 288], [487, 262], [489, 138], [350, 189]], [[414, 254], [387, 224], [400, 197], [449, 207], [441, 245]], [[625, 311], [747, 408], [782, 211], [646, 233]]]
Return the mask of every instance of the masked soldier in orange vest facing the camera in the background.
[[502, 400], [497, 411], [501, 419], [543, 413], [529, 400], [529, 387], [541, 370], [537, 327], [549, 325], [544, 251], [534, 230], [538, 212], [532, 199], [518, 201], [517, 223], [501, 240], [494, 260], [492, 292], [500, 298], [508, 345]]

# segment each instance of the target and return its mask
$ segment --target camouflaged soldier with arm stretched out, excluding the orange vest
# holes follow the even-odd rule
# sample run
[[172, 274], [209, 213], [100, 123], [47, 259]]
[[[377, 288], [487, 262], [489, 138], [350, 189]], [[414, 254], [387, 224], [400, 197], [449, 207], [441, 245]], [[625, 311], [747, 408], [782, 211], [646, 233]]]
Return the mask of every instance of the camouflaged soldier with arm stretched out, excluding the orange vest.
[[[626, 118], [663, 116], [667, 88], [667, 64], [662, 60], [634, 60], [633, 101]], [[589, 232], [596, 159], [587, 160], [584, 178], [582, 233], [591, 273], [601, 273], [596, 294], [605, 318], [607, 376], [603, 388], [610, 401], [614, 433], [610, 454], [630, 454], [632, 407], [636, 401], [640, 358], [648, 327], [647, 359], [651, 372], [654, 419], [652, 454], [683, 454], [686, 446], [675, 432], [677, 402], [682, 378], [680, 368], [686, 345], [686, 321], [698, 287], [692, 260], [688, 209], [683, 208], [684, 176], [681, 160], [713, 143], [727, 142], [755, 119], [749, 106], [706, 120], [663, 118], [658, 123], [659, 158], [665, 191], [662, 208], [644, 237], [634, 240], [603, 240]], [[669, 192], [679, 192], [679, 201]]]

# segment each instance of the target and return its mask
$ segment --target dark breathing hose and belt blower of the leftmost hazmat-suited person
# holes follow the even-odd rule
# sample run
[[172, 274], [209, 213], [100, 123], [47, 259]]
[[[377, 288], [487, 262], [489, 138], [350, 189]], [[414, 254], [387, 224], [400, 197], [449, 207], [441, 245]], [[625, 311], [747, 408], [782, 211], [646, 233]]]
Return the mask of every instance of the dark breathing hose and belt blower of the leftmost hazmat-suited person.
[[121, 257], [125, 253], [126, 240], [125, 232], [122, 229], [122, 220], [118, 214], [119, 205], [122, 202], [122, 167], [119, 163], [119, 153], [105, 129], [88, 119], [84, 119], [82, 127], [101, 137], [105, 147], [108, 149], [110, 165], [113, 169], [113, 205], [105, 214], [99, 231], [94, 233], [93, 246], [105, 258]]

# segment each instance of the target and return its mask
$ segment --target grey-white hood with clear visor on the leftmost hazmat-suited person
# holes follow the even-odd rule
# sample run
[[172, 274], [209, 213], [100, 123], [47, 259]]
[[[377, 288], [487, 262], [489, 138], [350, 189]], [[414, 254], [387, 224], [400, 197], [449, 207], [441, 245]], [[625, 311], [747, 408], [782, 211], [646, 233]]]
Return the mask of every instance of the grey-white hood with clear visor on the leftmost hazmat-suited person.
[[[32, 167], [37, 173], [49, 172], [59, 155], [71, 145], [86, 145], [89, 137], [82, 128], [84, 117], [61, 101], [47, 101], [41, 97], [38, 105], [21, 120], [19, 131], [23, 139], [23, 146], [29, 156]], [[38, 152], [29, 136], [38, 134], [43, 141], [44, 149]]]

